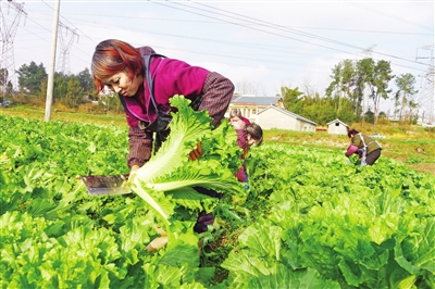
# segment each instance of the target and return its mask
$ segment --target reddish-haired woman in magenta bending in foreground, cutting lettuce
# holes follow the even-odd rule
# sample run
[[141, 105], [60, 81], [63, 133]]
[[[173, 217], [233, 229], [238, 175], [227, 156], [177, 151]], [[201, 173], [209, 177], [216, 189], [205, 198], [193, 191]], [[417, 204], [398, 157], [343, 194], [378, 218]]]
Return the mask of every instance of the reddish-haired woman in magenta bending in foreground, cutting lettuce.
[[[157, 54], [150, 47], [135, 48], [116, 39], [97, 45], [91, 72], [98, 92], [108, 87], [119, 95], [124, 105], [129, 126], [127, 165], [132, 172], [151, 158], [153, 135], [156, 151], [169, 136], [170, 112], [174, 111], [170, 99], [173, 96], [185, 96], [191, 100], [190, 105], [196, 111], [208, 110], [213, 118], [212, 125], [217, 126], [225, 116], [234, 92], [233, 83], [216, 72]], [[201, 151], [198, 143], [189, 159], [197, 160]], [[212, 190], [195, 189], [214, 198], [221, 197]], [[202, 212], [194, 230], [204, 233], [213, 221], [212, 213]], [[162, 243], [159, 247], [165, 242]]]

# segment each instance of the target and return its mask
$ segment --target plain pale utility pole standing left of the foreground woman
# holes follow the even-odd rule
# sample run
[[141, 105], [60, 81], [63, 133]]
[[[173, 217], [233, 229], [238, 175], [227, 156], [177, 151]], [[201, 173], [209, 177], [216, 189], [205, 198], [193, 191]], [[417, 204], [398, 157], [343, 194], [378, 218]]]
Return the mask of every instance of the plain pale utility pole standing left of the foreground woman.
[[51, 106], [53, 103], [55, 47], [57, 47], [57, 41], [58, 41], [60, 5], [61, 5], [61, 0], [57, 0], [55, 8], [54, 8], [53, 32], [52, 32], [52, 37], [51, 37], [50, 71], [48, 74], [48, 84], [47, 84], [46, 115], [44, 118], [46, 122], [49, 122], [51, 120]]

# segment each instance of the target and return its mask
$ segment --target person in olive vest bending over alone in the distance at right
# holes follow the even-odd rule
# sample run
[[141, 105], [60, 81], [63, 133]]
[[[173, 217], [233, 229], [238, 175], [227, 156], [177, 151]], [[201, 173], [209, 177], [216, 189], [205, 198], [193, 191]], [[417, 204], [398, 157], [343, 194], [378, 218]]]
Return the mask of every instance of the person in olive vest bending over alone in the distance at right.
[[349, 129], [347, 136], [350, 138], [350, 144], [345, 153], [347, 158], [353, 153], [358, 154], [361, 166], [372, 165], [380, 159], [382, 148], [376, 140], [357, 129]]

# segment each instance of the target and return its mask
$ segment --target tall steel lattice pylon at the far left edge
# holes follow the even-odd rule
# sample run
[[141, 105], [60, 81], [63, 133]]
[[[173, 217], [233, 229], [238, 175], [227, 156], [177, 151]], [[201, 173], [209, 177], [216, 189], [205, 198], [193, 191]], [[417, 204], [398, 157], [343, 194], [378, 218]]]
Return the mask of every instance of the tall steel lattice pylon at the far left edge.
[[[13, 51], [13, 41], [15, 39], [16, 29], [20, 24], [20, 18], [23, 14], [27, 16], [27, 13], [23, 9], [24, 3], [15, 3], [12, 0], [2, 1], [0, 0], [0, 86], [1, 86], [1, 97], [4, 100], [7, 95], [8, 86], [11, 85], [12, 88], [15, 84], [15, 60]], [[10, 15], [10, 12], [14, 15]], [[9, 74], [9, 72], [11, 74]], [[11, 80], [12, 79], [12, 80]]]

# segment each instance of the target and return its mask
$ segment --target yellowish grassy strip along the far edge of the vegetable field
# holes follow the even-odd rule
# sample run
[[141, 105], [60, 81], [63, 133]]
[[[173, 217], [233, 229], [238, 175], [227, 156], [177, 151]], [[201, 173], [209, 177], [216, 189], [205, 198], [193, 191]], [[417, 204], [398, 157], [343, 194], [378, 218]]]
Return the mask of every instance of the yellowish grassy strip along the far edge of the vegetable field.
[[[30, 106], [1, 108], [1, 114], [45, 120], [45, 110]], [[53, 111], [52, 121], [85, 122], [100, 125], [126, 126], [123, 114], [85, 114]], [[386, 136], [380, 139], [383, 155], [398, 160], [410, 168], [435, 175], [435, 129], [425, 129], [411, 125], [377, 125], [355, 124], [353, 127], [363, 134], [380, 133]], [[295, 146], [310, 146], [345, 151], [349, 143], [347, 136], [330, 135], [327, 133], [299, 133], [291, 130], [270, 129], [264, 131], [265, 141], [286, 142]]]

